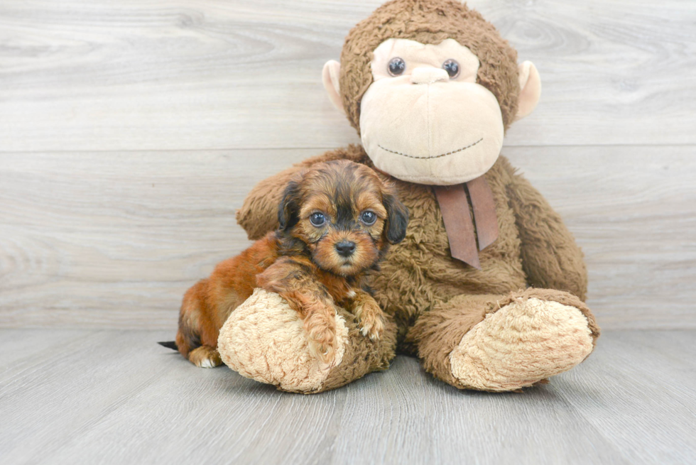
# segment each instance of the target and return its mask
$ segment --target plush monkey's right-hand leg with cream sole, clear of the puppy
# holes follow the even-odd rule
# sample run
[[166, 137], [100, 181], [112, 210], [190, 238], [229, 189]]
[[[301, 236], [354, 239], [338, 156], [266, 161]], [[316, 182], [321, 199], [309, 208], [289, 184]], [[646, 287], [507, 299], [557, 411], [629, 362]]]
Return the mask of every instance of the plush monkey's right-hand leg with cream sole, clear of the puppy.
[[567, 292], [459, 295], [408, 333], [426, 371], [460, 389], [509, 391], [570, 370], [589, 356], [599, 327]]

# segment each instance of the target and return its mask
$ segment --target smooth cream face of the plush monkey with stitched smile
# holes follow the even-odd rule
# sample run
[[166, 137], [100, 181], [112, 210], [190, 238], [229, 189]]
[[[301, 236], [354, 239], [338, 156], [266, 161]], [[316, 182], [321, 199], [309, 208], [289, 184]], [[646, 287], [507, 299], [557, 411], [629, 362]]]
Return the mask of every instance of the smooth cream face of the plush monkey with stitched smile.
[[494, 94], [476, 77], [479, 59], [453, 39], [438, 45], [388, 39], [374, 50], [374, 82], [360, 128], [375, 166], [401, 180], [451, 185], [491, 168], [503, 144]]

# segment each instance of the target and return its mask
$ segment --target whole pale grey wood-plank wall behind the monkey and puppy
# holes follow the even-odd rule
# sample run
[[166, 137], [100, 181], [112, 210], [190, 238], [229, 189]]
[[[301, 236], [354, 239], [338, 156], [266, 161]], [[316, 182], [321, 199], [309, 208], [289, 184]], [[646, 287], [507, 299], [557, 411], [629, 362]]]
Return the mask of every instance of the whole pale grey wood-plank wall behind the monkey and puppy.
[[[326, 60], [379, 1], [0, 3], [0, 327], [174, 329], [259, 180], [359, 141]], [[604, 329], [696, 327], [696, 2], [469, 1], [532, 60], [504, 154]]]

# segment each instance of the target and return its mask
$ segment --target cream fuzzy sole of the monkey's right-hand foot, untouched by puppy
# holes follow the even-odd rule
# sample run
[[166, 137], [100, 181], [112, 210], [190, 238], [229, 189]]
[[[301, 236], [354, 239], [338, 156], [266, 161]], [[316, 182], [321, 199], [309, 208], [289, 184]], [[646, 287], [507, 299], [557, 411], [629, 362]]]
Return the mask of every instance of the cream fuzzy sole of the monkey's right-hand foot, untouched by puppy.
[[516, 390], [570, 370], [592, 352], [587, 318], [575, 307], [516, 299], [486, 315], [450, 353], [467, 388]]

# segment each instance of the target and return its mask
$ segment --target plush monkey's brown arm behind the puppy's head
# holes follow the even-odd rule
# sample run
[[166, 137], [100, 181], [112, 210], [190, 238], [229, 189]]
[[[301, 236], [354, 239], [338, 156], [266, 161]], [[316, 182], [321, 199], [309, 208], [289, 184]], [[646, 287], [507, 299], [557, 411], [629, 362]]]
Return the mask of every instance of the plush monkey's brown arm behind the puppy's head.
[[366, 163], [368, 158], [362, 147], [348, 146], [335, 151], [328, 151], [296, 163], [291, 168], [259, 182], [244, 199], [241, 208], [236, 212], [236, 222], [244, 228], [251, 240], [261, 239], [268, 231], [278, 227], [278, 204], [281, 203], [283, 190], [295, 173], [309, 168], [315, 163], [339, 159]]

